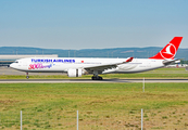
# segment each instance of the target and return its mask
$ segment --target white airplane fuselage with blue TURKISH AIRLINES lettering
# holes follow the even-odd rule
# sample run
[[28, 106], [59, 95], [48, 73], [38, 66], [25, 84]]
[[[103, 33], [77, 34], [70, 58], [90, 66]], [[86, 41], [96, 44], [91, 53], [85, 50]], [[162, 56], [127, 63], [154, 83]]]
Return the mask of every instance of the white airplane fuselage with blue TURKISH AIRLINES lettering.
[[[89, 68], [100, 65], [123, 63], [127, 58], [90, 58], [90, 57], [30, 57], [21, 58], [11, 67], [27, 73], [64, 73], [72, 68]], [[140, 73], [163, 67], [164, 60], [134, 58], [129, 63], [120, 64], [115, 68], [104, 69], [109, 73]]]

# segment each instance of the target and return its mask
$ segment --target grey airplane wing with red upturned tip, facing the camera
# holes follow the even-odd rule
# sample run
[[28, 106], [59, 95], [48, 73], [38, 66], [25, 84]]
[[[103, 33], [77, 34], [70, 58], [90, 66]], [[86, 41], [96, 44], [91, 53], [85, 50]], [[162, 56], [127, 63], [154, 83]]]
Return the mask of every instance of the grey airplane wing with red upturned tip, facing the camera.
[[100, 74], [100, 73], [102, 73], [104, 69], [115, 68], [115, 67], [117, 67], [117, 65], [129, 63], [129, 62], [133, 61], [133, 58], [134, 58], [134, 57], [129, 57], [127, 61], [122, 62], [122, 63], [106, 64], [106, 65], [98, 65], [98, 66], [93, 66], [93, 67], [85, 67], [85, 69], [86, 69], [88, 73], [91, 73], [91, 72], [93, 72], [93, 70], [98, 70], [99, 74]]

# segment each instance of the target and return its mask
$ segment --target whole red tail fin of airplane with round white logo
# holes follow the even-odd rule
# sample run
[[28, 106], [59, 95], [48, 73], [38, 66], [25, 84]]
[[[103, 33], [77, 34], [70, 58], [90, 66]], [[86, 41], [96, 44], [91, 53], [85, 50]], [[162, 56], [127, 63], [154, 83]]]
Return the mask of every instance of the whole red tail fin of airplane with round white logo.
[[155, 60], [174, 60], [176, 51], [180, 44], [183, 37], [174, 37], [156, 55], [149, 57]]

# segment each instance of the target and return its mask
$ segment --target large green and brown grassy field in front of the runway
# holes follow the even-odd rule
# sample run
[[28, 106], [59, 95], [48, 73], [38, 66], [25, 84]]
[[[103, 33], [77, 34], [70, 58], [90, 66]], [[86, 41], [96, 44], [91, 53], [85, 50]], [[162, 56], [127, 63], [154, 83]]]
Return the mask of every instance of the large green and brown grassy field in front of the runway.
[[1, 83], [0, 129], [188, 129], [188, 83]]

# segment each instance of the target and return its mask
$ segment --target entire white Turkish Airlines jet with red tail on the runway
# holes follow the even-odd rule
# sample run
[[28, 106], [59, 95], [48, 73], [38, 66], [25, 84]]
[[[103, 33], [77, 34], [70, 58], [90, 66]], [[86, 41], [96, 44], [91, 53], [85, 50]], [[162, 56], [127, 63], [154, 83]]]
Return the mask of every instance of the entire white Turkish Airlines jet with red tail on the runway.
[[92, 80], [102, 80], [99, 74], [140, 73], [174, 63], [183, 37], [174, 37], [156, 55], [149, 58], [89, 58], [89, 57], [29, 57], [16, 60], [10, 67], [28, 73], [67, 73], [68, 77], [93, 74]]

